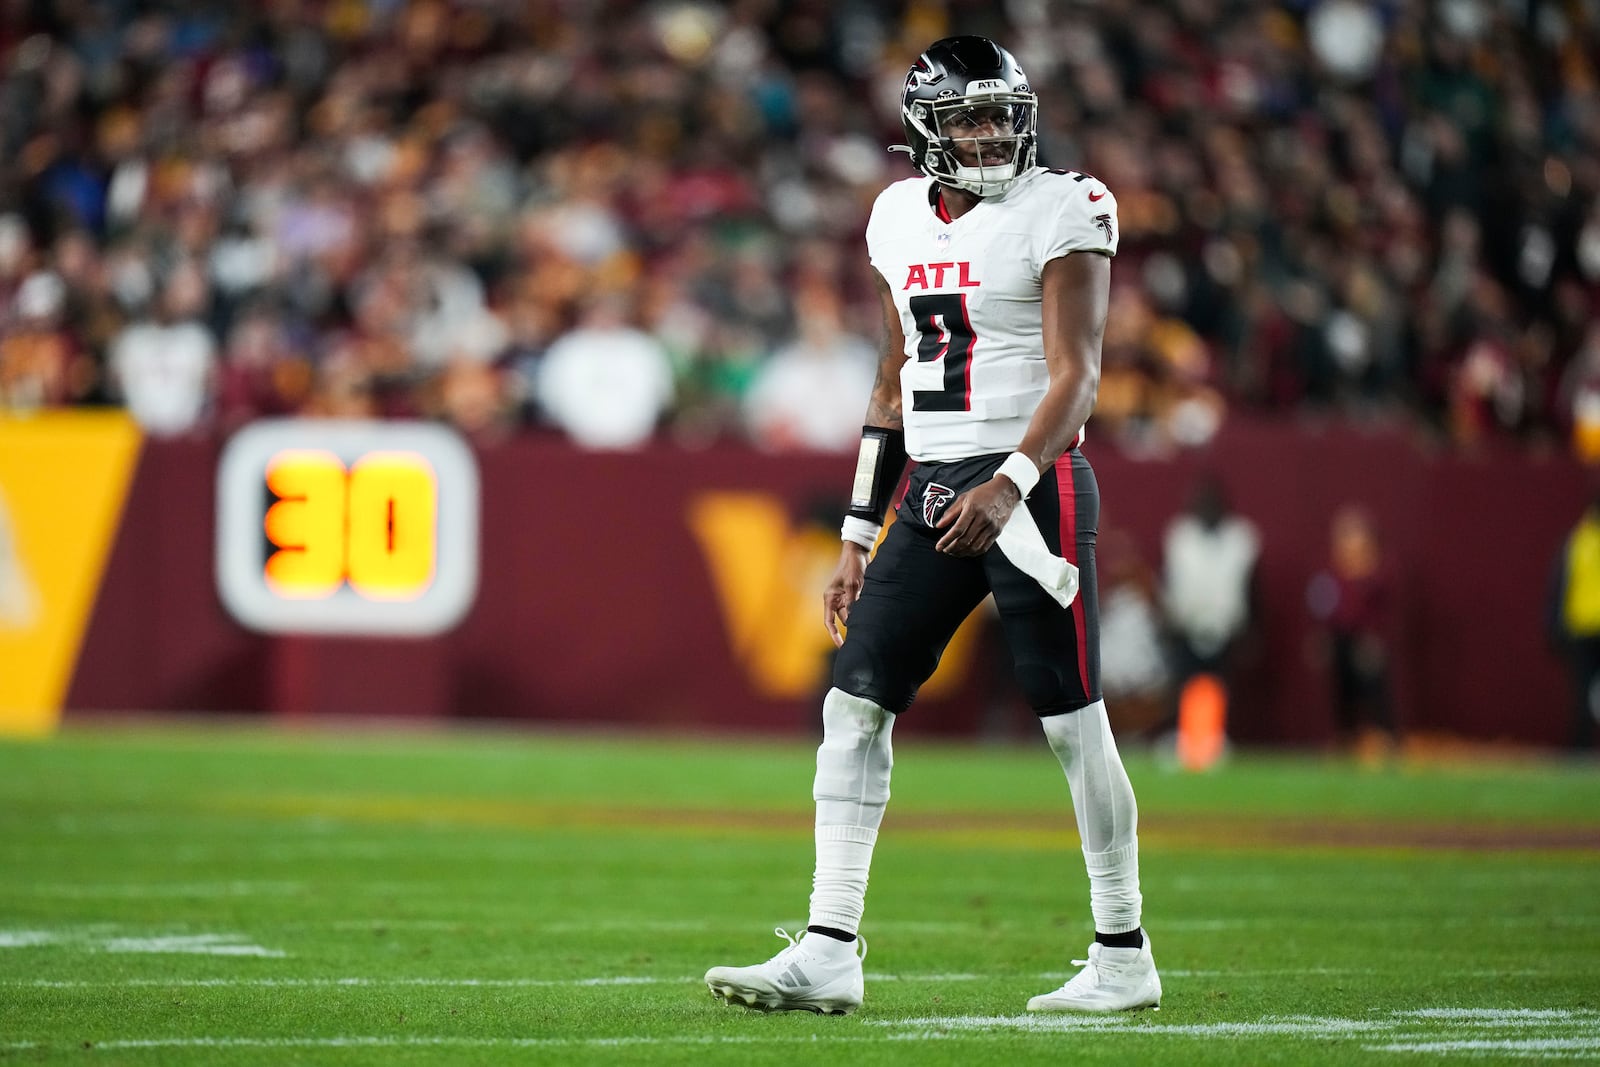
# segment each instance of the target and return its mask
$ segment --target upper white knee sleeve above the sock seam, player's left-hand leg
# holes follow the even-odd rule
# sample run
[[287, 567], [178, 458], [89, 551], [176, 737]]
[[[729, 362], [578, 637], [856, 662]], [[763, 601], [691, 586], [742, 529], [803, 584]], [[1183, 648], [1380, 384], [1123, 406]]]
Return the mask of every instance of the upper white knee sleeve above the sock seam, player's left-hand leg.
[[878, 829], [894, 768], [894, 713], [872, 701], [829, 689], [822, 701], [822, 744], [816, 750], [818, 825]]

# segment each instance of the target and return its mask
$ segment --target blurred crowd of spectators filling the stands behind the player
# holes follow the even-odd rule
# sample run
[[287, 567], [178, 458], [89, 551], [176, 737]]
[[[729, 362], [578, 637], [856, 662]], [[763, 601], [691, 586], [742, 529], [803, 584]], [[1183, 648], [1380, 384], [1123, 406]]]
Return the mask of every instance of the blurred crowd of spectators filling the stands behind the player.
[[1579, 0], [0, 0], [0, 408], [854, 448], [904, 72], [1008, 45], [1122, 213], [1096, 432], [1600, 459]]

